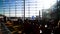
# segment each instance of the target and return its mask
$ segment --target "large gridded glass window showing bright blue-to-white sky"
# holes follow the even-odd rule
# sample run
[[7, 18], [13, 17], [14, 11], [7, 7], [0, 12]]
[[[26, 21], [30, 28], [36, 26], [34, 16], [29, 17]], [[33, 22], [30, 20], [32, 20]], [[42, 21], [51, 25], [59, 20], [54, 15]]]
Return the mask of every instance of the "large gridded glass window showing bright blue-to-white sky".
[[50, 9], [57, 0], [0, 0], [0, 14], [4, 14], [7, 17], [24, 17], [24, 7], [25, 7], [25, 17], [42, 17], [42, 10]]

